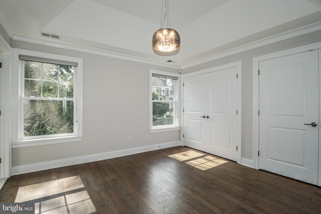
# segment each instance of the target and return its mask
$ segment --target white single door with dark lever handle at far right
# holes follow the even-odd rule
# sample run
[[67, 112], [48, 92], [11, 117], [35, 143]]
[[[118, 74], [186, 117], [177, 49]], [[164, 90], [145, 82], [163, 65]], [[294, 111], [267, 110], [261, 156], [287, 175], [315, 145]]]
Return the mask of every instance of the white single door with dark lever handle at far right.
[[262, 61], [259, 72], [259, 168], [317, 184], [318, 52]]

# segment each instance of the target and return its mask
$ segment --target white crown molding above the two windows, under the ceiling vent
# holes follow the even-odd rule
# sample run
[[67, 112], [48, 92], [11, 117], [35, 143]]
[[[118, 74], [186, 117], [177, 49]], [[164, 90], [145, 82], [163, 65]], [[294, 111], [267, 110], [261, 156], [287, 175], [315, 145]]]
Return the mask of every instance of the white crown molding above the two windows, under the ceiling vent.
[[45, 46], [54, 47], [54, 48], [62, 48], [62, 49], [67, 49], [67, 50], [72, 50], [72, 51], [79, 51], [79, 52], [84, 52], [84, 53], [89, 53], [89, 54], [100, 55], [100, 56], [112, 57], [112, 58], [116, 58], [116, 59], [144, 63], [144, 64], [149, 64], [149, 65], [154, 65], [154, 66], [161, 66], [161, 67], [173, 68], [173, 69], [181, 69], [181, 67], [177, 66], [177, 65], [168, 65], [165, 63], [160, 63], [160, 62], [149, 60], [149, 59], [142, 58], [142, 57], [136, 57], [136, 56], [131, 56], [131, 55], [127, 55], [127, 54], [116, 53], [116, 52], [107, 51], [107, 50], [98, 49], [98, 48], [91, 48], [88, 46], [75, 45], [75, 44], [70, 44], [70, 43], [66, 43], [66, 42], [62, 42], [62, 41], [52, 41], [49, 39], [42, 39], [39, 37], [33, 37], [33, 36], [29, 36], [29, 35], [16, 34], [13, 36], [12, 40], [33, 43], [33, 44], [37, 44], [37, 45], [45, 45]]

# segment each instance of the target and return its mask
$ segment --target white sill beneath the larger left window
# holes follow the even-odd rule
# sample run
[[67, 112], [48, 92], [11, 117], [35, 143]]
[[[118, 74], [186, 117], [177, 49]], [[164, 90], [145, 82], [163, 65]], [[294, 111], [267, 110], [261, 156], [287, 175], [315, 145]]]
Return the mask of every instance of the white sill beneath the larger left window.
[[29, 146], [41, 146], [41, 145], [49, 145], [56, 143], [68, 143], [81, 141], [82, 136], [69, 136], [69, 137], [55, 137], [55, 138], [42, 138], [42, 139], [32, 139], [32, 140], [21, 140], [18, 142], [12, 143], [12, 148], [20, 148], [20, 147], [29, 147]]

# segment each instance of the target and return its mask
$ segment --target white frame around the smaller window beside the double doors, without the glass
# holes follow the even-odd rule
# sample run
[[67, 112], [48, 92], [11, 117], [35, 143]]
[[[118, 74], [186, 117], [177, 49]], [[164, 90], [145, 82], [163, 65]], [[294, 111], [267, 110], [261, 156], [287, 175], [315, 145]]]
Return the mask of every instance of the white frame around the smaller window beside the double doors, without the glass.
[[[172, 76], [177, 77], [178, 80], [175, 81], [175, 88], [174, 88], [174, 99], [175, 99], [175, 108], [174, 108], [174, 124], [173, 125], [165, 125], [165, 126], [153, 126], [152, 125], [152, 74], [159, 74], [159, 75], [166, 75], [166, 76]], [[170, 73], [170, 72], [164, 72], [164, 71], [157, 71], [157, 70], [149, 70], [149, 132], [162, 132], [162, 131], [174, 131], [174, 130], [181, 130], [180, 126], [180, 85], [181, 85], [181, 75]]]

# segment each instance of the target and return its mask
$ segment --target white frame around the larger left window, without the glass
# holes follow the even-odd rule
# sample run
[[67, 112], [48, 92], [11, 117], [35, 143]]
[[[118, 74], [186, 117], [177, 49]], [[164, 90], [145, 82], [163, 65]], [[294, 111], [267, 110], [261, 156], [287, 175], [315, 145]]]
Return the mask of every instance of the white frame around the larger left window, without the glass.
[[[23, 136], [23, 109], [21, 107], [21, 99], [23, 95], [23, 81], [24, 70], [23, 62], [19, 59], [19, 55], [26, 55], [31, 57], [40, 57], [53, 60], [62, 60], [77, 63], [76, 72], [74, 76], [75, 84], [75, 106], [74, 106], [74, 133], [72, 134], [60, 134], [60, 135], [45, 135], [35, 137]], [[47, 145], [54, 143], [66, 143], [82, 140], [82, 59], [67, 57], [61, 55], [47, 54], [35, 51], [28, 51], [22, 49], [13, 50], [13, 142], [12, 147], [27, 147], [35, 145]]]

